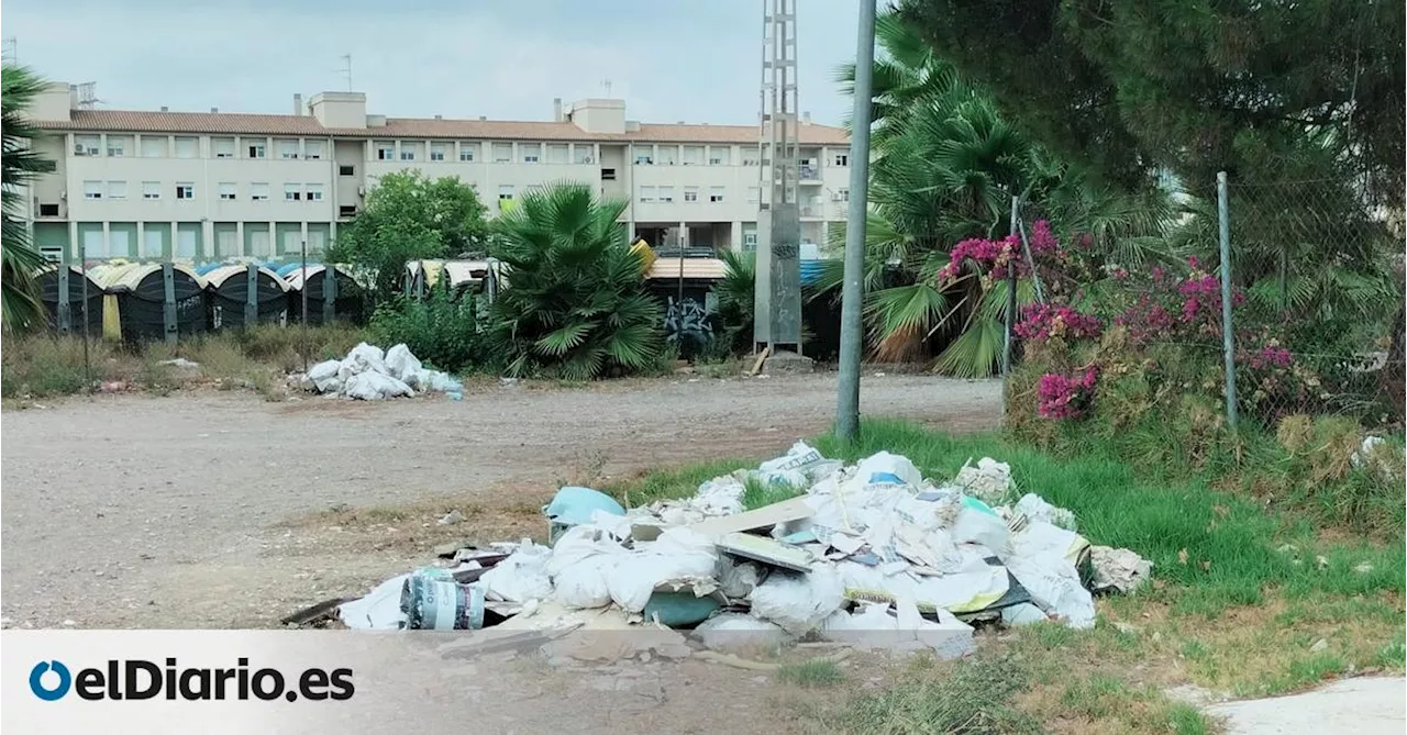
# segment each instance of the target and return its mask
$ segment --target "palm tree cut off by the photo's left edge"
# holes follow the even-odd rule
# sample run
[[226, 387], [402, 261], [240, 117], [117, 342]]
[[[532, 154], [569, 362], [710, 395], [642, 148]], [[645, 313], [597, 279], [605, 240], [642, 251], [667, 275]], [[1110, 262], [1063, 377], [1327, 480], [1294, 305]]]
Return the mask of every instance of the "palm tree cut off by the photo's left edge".
[[23, 212], [24, 187], [35, 174], [53, 170], [53, 162], [34, 150], [38, 131], [24, 110], [44, 89], [44, 82], [18, 66], [0, 65], [0, 333], [15, 333], [44, 322], [34, 274], [44, 257], [30, 247], [30, 233], [15, 212]]

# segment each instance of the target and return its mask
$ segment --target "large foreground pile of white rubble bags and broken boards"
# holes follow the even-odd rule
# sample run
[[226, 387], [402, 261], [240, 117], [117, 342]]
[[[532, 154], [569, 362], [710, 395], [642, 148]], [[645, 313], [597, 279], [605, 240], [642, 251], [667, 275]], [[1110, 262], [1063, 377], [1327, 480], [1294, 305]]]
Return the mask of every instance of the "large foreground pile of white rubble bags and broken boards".
[[[801, 495], [744, 510], [749, 486]], [[1002, 505], [1010, 500], [1012, 505]], [[958, 656], [972, 625], [1095, 624], [1092, 592], [1133, 592], [1150, 564], [1092, 547], [1068, 510], [983, 458], [948, 482], [879, 453], [843, 467], [798, 443], [682, 500], [626, 510], [587, 488], [543, 509], [550, 547], [464, 548], [456, 566], [343, 603], [352, 628], [691, 628], [715, 639], [822, 638]]]

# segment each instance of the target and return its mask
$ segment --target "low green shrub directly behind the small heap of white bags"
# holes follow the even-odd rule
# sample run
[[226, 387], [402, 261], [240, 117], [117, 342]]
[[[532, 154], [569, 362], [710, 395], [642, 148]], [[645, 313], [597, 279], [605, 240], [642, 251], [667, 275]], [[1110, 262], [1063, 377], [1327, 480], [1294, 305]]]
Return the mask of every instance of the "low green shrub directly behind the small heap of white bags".
[[447, 287], [431, 288], [424, 299], [400, 298], [378, 306], [371, 333], [383, 347], [405, 343], [415, 357], [439, 370], [461, 372], [490, 363], [478, 298], [454, 298]]

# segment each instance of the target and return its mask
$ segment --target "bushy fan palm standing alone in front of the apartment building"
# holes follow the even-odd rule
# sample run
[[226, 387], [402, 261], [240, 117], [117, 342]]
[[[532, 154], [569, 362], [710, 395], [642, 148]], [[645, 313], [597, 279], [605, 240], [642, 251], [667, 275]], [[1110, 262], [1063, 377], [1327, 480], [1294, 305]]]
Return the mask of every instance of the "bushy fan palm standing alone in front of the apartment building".
[[588, 379], [658, 358], [660, 306], [619, 222], [625, 208], [585, 184], [560, 183], [498, 219], [492, 254], [508, 267], [508, 288], [490, 323], [511, 375]]

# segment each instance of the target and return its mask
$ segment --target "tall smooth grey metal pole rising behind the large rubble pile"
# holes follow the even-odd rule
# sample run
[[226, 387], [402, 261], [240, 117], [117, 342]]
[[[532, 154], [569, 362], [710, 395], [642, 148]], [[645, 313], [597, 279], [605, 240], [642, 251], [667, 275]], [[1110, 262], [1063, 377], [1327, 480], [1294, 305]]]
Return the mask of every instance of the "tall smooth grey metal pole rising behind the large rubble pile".
[[860, 433], [860, 360], [864, 350], [865, 218], [870, 212], [870, 112], [875, 63], [875, 0], [860, 0], [855, 42], [855, 98], [850, 131], [850, 212], [846, 218], [846, 273], [840, 302], [840, 389], [836, 436]]

